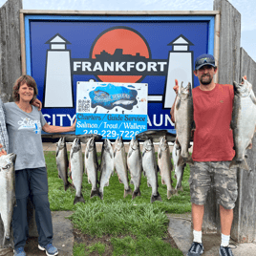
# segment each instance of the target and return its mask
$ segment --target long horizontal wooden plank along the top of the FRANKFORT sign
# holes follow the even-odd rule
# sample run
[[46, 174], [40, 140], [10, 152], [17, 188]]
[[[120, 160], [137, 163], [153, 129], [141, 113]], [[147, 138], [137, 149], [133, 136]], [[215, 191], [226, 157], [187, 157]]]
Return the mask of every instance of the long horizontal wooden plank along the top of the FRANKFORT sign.
[[216, 15], [220, 14], [220, 11], [57, 11], [57, 10], [21, 10], [21, 13], [25, 14], [56, 14], [56, 15], [117, 15], [117, 16], [134, 16], [134, 15]]

